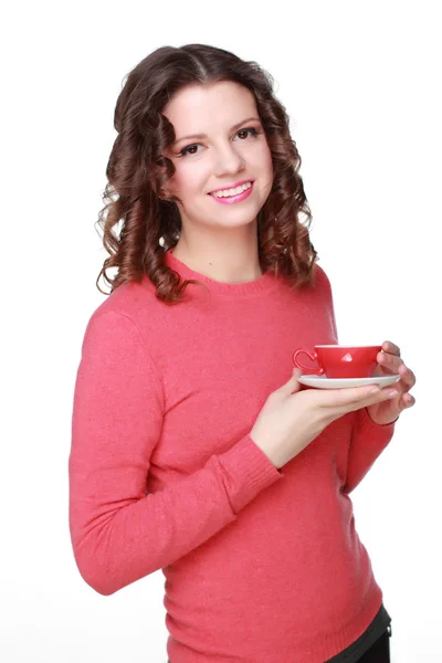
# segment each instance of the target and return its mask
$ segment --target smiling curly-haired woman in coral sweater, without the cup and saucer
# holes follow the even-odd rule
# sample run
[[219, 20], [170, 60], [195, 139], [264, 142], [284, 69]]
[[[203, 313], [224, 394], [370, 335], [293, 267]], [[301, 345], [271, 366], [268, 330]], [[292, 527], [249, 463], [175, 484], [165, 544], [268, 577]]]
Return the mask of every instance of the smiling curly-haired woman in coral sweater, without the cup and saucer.
[[115, 127], [112, 292], [73, 409], [81, 575], [108, 596], [162, 569], [171, 663], [389, 661], [348, 495], [415, 379], [389, 341], [392, 396], [305, 389], [292, 370], [294, 349], [338, 339], [271, 76], [221, 49], [161, 48], [129, 74]]

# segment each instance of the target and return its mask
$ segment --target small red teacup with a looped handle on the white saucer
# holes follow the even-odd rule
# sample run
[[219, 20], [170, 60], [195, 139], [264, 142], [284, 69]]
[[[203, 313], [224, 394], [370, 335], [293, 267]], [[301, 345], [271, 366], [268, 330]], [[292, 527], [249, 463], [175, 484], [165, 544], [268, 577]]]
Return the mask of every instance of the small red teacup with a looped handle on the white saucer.
[[[326, 375], [327, 378], [371, 378], [378, 365], [378, 352], [382, 346], [314, 346], [315, 351], [299, 348], [293, 354], [293, 364], [303, 373]], [[298, 356], [307, 355], [312, 361], [318, 362], [318, 368], [304, 366]]]

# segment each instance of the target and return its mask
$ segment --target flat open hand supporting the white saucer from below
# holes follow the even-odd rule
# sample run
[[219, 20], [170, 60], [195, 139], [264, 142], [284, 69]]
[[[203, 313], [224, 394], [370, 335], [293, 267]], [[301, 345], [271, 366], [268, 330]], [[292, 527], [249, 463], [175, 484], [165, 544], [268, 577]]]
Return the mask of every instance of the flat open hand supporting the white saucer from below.
[[[376, 385], [302, 390], [301, 375], [302, 370], [295, 368], [288, 382], [269, 396], [250, 432], [253, 442], [277, 470], [335, 419], [397, 396], [394, 389], [380, 389]], [[393, 396], [389, 396], [391, 391]]]

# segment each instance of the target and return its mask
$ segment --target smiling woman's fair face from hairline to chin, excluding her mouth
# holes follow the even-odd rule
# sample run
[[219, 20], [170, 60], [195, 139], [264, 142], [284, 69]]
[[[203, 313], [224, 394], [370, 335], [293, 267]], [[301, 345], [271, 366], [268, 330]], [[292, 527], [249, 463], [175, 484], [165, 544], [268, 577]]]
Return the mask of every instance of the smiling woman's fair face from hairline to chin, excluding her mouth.
[[[271, 192], [273, 166], [253, 94], [232, 82], [190, 85], [162, 114], [176, 135], [166, 151], [176, 168], [166, 189], [182, 201], [182, 223], [232, 228], [254, 221]], [[253, 185], [242, 201], [223, 204], [210, 196], [243, 181]]]

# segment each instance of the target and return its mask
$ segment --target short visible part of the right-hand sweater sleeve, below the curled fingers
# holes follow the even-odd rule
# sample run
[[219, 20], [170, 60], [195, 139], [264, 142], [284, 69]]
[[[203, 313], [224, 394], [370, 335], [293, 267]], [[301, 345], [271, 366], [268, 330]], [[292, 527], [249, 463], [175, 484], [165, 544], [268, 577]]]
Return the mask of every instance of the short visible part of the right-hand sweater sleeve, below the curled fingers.
[[344, 493], [348, 495], [356, 488], [389, 444], [396, 421], [380, 425], [370, 419], [367, 408], [355, 412]]

